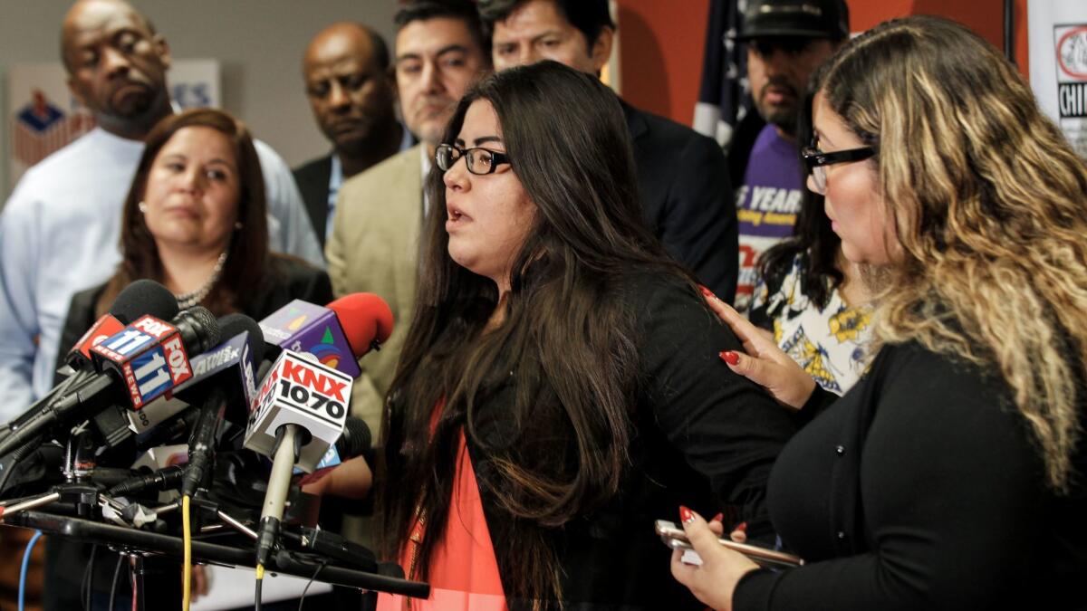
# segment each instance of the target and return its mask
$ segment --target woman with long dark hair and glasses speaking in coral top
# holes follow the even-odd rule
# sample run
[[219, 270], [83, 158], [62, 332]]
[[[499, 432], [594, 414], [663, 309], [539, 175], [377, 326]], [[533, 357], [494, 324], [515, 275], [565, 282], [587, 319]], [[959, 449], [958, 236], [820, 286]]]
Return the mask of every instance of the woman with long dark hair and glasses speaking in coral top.
[[377, 477], [379, 547], [432, 586], [409, 607], [701, 609], [654, 520], [759, 522], [794, 425], [717, 372], [739, 341], [645, 227], [615, 95], [505, 70], [442, 141]]

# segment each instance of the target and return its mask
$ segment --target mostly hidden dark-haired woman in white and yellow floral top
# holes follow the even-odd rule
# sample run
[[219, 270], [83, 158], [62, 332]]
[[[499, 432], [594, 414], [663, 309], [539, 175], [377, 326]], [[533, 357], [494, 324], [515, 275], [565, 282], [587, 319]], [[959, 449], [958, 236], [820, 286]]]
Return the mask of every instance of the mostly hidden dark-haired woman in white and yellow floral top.
[[[813, 75], [819, 82], [820, 72]], [[797, 138], [811, 142], [814, 91], [804, 96]], [[872, 307], [857, 263], [823, 210], [824, 198], [804, 189], [791, 238], [759, 260], [748, 320], [773, 333], [774, 342], [822, 388], [842, 395], [872, 361]]]

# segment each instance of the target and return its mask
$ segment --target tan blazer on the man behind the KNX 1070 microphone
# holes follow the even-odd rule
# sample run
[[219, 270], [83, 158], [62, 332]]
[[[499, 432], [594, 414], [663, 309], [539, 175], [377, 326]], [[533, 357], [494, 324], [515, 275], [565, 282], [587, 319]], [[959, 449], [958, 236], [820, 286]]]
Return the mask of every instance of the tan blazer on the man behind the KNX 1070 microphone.
[[423, 223], [422, 147], [417, 145], [353, 176], [336, 199], [333, 234], [325, 246], [337, 297], [373, 292], [392, 310], [392, 335], [379, 352], [359, 361], [351, 414], [363, 419], [378, 442], [385, 394], [415, 307], [418, 236]]

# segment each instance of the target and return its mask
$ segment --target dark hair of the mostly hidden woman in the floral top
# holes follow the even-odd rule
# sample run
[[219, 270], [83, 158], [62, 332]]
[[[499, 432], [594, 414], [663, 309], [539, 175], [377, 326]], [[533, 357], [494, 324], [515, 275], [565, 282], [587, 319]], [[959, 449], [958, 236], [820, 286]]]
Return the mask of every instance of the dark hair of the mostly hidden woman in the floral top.
[[[819, 83], [821, 76], [822, 67], [812, 74], [811, 83]], [[814, 134], [812, 100], [815, 98], [815, 91], [814, 85], [808, 88], [797, 122], [797, 142], [802, 147], [812, 141]], [[792, 237], [774, 245], [762, 254], [759, 260], [759, 274], [770, 292], [776, 292], [792, 269], [792, 261], [799, 255], [800, 290], [812, 303], [825, 308], [830, 300], [830, 291], [846, 278], [838, 269], [838, 249], [841, 239], [830, 228], [830, 220], [823, 209], [823, 196], [808, 190], [803, 184], [808, 179], [808, 170], [802, 163], [800, 172], [801, 205]]]

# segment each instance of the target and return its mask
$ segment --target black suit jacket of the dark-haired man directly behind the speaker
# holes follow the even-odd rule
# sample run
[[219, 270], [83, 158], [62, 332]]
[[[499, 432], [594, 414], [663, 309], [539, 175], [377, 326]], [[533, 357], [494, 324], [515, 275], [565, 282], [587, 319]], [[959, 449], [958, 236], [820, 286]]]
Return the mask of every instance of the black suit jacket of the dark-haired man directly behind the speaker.
[[736, 297], [736, 201], [712, 138], [623, 102], [645, 219], [665, 249], [727, 303]]

